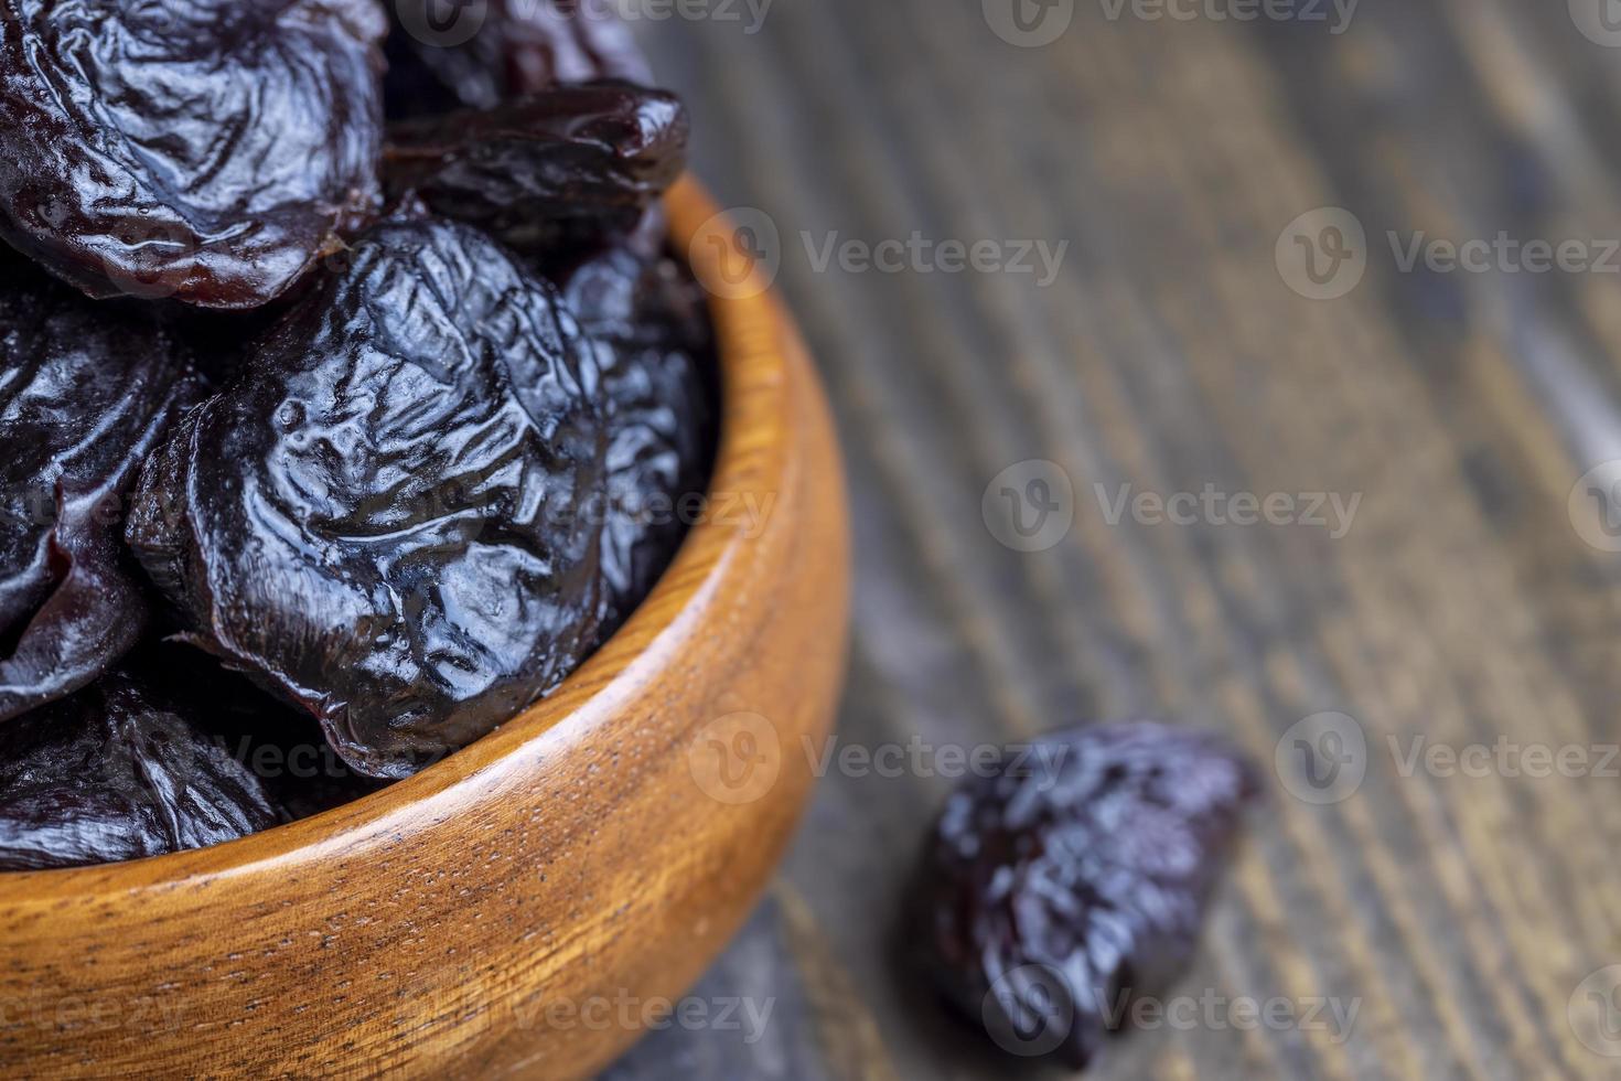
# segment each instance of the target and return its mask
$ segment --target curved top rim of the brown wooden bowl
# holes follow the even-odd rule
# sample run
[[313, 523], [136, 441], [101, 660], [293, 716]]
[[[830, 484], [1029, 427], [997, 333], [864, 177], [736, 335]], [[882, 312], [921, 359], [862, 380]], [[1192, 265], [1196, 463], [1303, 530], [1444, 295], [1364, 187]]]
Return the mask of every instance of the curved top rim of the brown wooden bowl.
[[[770, 277], [760, 266], [751, 264], [739, 282], [733, 267], [725, 264], [721, 246], [700, 243], [705, 237], [731, 233], [725, 212], [691, 173], [671, 186], [663, 203], [669, 219], [668, 238], [678, 256], [684, 256], [700, 284], [715, 284], [707, 285], [705, 293], [715, 324], [721, 420], [705, 496], [739, 493], [763, 498], [783, 491], [788, 483], [783, 473], [793, 467], [780, 454], [786, 449], [780, 417], [789, 407], [783, 345], [744, 337], [746, 327], [762, 326], [762, 314], [770, 314], [765, 326], [776, 326], [778, 308]], [[760, 371], [767, 358], [775, 358], [773, 370]], [[775, 394], [754, 392], [767, 387]], [[762, 449], [778, 454], [762, 455]], [[778, 468], [760, 470], [762, 460]], [[462, 781], [514, 760], [564, 723], [580, 720], [587, 726], [600, 724], [601, 710], [611, 708], [614, 686], [642, 677], [635, 671], [640, 668], [637, 661], [660, 652], [658, 640], [682, 622], [694, 601], [712, 592], [744, 543], [747, 538], [731, 525], [707, 515], [694, 522], [674, 559], [631, 617], [561, 684], [494, 731], [413, 776], [306, 818], [207, 848], [115, 864], [0, 872], [0, 906], [173, 888], [246, 874], [271, 862], [318, 859], [324, 852], [353, 856], [357, 841], [386, 835], [392, 818], [413, 814]], [[571, 737], [579, 734], [571, 733]], [[405, 823], [407, 818], [400, 818], [400, 828], [407, 828]]]

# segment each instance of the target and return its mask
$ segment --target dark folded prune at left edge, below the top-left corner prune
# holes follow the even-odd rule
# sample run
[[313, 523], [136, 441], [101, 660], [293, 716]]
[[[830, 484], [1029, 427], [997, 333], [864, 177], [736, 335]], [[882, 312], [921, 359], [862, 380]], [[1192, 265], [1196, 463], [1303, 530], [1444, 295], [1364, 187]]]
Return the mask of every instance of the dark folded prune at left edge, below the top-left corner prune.
[[151, 313], [6, 264], [0, 292], [0, 721], [84, 687], [148, 619], [120, 538], [141, 460], [199, 391]]

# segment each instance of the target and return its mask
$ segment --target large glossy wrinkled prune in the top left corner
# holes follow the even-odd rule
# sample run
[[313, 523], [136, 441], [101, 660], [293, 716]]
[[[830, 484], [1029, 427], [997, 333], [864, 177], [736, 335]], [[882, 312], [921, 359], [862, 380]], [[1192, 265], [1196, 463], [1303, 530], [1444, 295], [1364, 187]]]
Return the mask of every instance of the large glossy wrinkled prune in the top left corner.
[[0, 233], [96, 298], [254, 308], [378, 198], [376, 0], [0, 0]]

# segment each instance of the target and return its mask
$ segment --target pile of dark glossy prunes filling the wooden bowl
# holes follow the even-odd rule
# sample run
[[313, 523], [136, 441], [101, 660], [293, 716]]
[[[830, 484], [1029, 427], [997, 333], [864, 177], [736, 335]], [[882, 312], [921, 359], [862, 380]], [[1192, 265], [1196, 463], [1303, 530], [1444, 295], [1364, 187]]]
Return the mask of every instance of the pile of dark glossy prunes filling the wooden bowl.
[[0, 870], [408, 776], [681, 545], [686, 110], [584, 6], [444, 6], [0, 0]]

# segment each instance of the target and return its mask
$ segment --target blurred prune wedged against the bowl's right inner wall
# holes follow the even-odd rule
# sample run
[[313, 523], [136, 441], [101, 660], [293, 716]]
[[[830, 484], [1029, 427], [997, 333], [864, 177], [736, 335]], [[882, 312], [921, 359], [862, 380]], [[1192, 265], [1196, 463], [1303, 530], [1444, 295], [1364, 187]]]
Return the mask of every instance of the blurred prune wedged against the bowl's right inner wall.
[[[661, 222], [658, 222], [661, 225]], [[652, 592], [708, 494], [718, 441], [704, 292], [668, 256], [611, 248], [559, 282], [597, 344], [608, 415], [605, 634]]]

